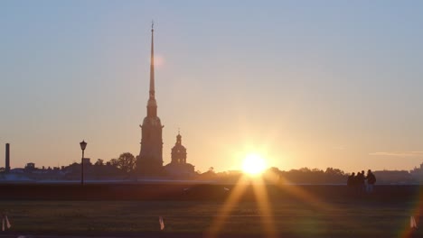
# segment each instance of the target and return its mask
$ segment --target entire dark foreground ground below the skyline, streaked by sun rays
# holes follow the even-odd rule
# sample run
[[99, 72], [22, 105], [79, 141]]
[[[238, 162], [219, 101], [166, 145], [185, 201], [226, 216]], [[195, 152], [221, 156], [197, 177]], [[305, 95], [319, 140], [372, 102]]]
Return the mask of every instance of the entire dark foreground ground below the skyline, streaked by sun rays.
[[[422, 188], [0, 185], [0, 237], [423, 237]], [[164, 218], [160, 230], [158, 217]], [[410, 228], [410, 217], [422, 228]]]

